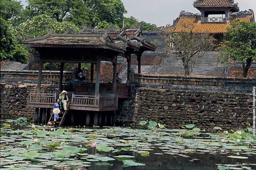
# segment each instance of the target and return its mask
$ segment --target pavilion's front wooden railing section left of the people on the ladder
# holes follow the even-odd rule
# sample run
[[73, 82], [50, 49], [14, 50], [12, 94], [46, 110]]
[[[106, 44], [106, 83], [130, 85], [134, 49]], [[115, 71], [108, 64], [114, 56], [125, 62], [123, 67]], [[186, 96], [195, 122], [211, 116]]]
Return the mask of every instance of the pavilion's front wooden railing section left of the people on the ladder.
[[30, 93], [29, 103], [34, 104], [53, 104], [56, 99], [55, 94], [45, 94], [45, 93]]

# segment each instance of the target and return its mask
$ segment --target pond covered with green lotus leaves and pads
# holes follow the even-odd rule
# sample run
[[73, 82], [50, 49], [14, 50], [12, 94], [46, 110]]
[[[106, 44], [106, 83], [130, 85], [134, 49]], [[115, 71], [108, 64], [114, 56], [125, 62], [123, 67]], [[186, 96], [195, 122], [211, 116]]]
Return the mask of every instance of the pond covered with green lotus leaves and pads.
[[0, 169], [256, 169], [252, 128], [207, 133], [193, 124], [140, 124], [54, 128], [2, 120]]

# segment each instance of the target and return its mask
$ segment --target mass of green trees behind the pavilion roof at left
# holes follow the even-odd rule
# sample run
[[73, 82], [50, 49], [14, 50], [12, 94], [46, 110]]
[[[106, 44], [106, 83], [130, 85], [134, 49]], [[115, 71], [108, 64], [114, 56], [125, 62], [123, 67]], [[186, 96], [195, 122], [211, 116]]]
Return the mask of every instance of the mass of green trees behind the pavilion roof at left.
[[[1, 60], [27, 61], [24, 41], [49, 32], [79, 31], [85, 26], [97, 29], [123, 27], [125, 10], [121, 0], [27, 0], [23, 9], [15, 0], [0, 1]], [[125, 19], [126, 20], [126, 19]], [[140, 24], [127, 18], [127, 27]], [[143, 22], [148, 30], [153, 24]]]

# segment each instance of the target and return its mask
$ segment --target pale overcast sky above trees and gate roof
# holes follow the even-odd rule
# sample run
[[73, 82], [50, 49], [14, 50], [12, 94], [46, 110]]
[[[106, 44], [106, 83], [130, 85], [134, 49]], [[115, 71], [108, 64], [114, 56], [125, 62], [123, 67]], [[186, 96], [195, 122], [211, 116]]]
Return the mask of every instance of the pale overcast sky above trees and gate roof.
[[[0, 0], [1, 1], [1, 0]], [[19, 1], [19, 0], [17, 0]], [[179, 16], [181, 10], [199, 13], [193, 7], [194, 0], [121, 0], [127, 10], [126, 17], [133, 16], [139, 21], [149, 22], [157, 26], [166, 26]], [[214, 1], [214, 0], [213, 0]], [[26, 4], [25, 0], [21, 0]], [[256, 0], [235, 0], [240, 10], [252, 9], [256, 12]]]

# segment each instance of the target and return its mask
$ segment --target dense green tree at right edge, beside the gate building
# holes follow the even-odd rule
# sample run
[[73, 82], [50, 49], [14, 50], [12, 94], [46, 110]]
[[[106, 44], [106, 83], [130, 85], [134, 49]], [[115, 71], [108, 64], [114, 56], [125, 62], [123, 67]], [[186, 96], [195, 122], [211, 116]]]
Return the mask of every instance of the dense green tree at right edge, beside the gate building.
[[256, 60], [256, 24], [253, 22], [233, 22], [224, 34], [225, 41], [220, 46], [219, 61], [230, 62], [230, 57], [242, 62], [243, 77]]

